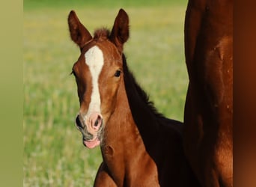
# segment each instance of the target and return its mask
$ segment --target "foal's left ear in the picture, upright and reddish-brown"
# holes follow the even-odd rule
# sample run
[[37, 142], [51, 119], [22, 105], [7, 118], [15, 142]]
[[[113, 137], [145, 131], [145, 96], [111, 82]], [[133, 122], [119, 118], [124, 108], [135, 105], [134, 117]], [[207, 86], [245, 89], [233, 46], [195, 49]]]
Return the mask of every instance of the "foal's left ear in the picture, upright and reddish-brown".
[[70, 11], [67, 19], [70, 28], [71, 39], [80, 47], [85, 45], [89, 40], [91, 40], [91, 34], [85, 28], [84, 25], [79, 21], [74, 10]]

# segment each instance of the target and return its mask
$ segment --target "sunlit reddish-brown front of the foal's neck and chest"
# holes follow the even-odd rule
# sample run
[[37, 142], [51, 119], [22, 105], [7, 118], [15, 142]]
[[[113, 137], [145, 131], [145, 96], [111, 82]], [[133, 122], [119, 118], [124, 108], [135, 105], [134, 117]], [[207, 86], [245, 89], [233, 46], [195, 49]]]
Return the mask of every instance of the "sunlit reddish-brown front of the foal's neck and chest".
[[156, 183], [156, 177], [151, 176], [156, 174], [156, 165], [147, 154], [144, 141], [133, 120], [124, 80], [118, 91], [115, 111], [106, 124], [104, 137], [101, 146], [103, 160], [118, 186], [138, 182], [146, 170], [147, 177], [150, 178], [147, 180]]

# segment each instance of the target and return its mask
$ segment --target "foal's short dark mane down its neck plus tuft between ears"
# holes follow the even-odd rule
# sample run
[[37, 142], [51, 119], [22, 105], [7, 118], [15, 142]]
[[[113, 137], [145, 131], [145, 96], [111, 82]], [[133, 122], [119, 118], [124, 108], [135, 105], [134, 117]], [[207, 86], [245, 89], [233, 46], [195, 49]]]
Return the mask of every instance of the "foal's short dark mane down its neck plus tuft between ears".
[[[107, 28], [99, 28], [96, 31], [94, 31], [94, 40], [110, 40], [110, 31]], [[147, 105], [147, 108], [156, 116], [156, 117], [163, 117], [161, 113], [159, 113], [154, 106], [153, 102], [150, 101], [148, 94], [141, 88], [140, 85], [138, 85], [138, 82], [136, 82], [135, 77], [132, 75], [132, 73], [129, 71], [129, 68], [127, 67], [127, 59], [122, 54], [123, 58], [123, 68], [124, 68], [124, 74], [125, 76], [129, 77], [128, 81], [134, 86], [135, 91], [137, 91], [138, 96], [142, 99], [145, 105]]]

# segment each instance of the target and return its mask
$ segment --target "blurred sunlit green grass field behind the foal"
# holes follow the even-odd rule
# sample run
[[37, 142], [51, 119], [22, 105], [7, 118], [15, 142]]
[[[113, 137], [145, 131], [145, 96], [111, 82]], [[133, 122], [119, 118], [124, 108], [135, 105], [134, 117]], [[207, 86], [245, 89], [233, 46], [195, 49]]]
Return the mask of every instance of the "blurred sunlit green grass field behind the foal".
[[129, 14], [127, 63], [156, 108], [183, 120], [188, 76], [184, 61], [186, 1], [24, 1], [23, 186], [92, 186], [100, 149], [82, 145], [79, 111], [70, 76], [79, 49], [70, 40], [67, 15], [76, 10], [91, 33], [112, 27], [120, 7]]

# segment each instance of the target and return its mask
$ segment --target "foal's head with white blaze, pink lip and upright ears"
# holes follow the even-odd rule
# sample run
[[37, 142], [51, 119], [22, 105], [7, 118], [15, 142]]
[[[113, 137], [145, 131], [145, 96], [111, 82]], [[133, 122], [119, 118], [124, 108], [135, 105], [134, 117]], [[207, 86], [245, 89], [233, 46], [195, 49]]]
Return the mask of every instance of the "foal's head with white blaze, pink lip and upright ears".
[[76, 126], [82, 132], [83, 144], [89, 148], [100, 144], [102, 129], [115, 109], [128, 23], [127, 13], [121, 9], [111, 32], [97, 30], [92, 37], [73, 10], [68, 16], [70, 37], [81, 51], [72, 69], [80, 102]]

